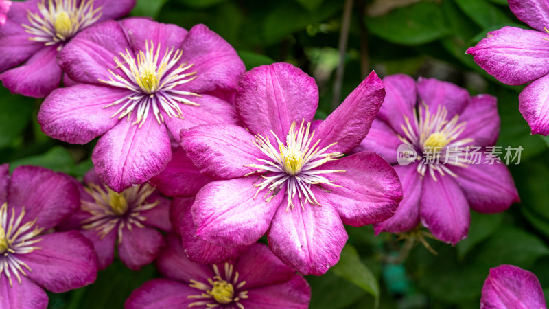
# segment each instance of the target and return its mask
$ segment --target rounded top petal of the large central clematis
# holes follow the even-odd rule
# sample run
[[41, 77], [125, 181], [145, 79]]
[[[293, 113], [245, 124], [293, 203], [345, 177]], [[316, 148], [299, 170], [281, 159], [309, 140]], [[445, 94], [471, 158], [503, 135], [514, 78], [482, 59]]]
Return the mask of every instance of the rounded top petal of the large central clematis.
[[292, 122], [312, 121], [318, 88], [314, 78], [289, 63], [264, 65], [242, 75], [235, 106], [253, 135], [271, 135], [272, 130], [283, 138]]

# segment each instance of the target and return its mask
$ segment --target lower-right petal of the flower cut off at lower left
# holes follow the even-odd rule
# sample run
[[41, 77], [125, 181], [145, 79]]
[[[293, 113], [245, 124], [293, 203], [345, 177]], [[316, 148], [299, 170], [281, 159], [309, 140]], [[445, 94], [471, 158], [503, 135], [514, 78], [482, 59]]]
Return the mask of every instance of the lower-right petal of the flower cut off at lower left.
[[97, 277], [97, 254], [93, 244], [78, 231], [40, 236], [40, 250], [18, 258], [32, 271], [27, 276], [54, 293], [86, 286]]

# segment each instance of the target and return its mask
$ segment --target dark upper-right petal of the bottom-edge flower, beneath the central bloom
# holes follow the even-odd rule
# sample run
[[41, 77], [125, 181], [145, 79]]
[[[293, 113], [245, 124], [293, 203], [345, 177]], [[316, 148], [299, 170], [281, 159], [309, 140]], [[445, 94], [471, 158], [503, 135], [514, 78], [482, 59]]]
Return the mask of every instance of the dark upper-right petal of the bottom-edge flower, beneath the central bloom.
[[238, 269], [238, 273], [246, 278], [246, 288], [248, 289], [288, 282], [296, 274], [294, 269], [285, 266], [263, 244], [252, 244], [248, 251], [238, 259], [235, 267]]

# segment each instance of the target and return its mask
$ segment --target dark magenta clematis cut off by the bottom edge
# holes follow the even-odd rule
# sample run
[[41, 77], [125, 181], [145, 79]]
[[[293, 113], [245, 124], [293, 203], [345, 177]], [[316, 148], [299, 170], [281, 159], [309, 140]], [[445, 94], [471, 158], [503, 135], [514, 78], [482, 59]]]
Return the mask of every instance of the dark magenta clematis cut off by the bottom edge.
[[308, 308], [311, 288], [303, 276], [285, 266], [264, 244], [253, 244], [238, 259], [224, 264], [196, 264], [181, 242], [156, 261], [166, 279], [152, 279], [133, 291], [127, 309], [145, 308]]

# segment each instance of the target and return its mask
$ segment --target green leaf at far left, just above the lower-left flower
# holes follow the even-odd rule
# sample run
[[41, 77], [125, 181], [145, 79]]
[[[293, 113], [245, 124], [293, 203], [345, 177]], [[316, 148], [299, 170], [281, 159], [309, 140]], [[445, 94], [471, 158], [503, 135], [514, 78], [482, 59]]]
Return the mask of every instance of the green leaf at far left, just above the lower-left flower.
[[56, 172], [69, 173], [74, 168], [74, 159], [69, 151], [62, 146], [54, 146], [42, 155], [25, 157], [10, 162], [10, 170], [19, 165], [36, 165], [49, 168]]

